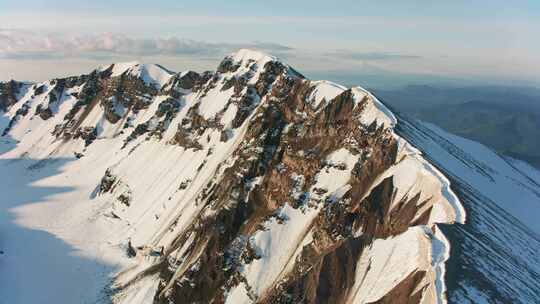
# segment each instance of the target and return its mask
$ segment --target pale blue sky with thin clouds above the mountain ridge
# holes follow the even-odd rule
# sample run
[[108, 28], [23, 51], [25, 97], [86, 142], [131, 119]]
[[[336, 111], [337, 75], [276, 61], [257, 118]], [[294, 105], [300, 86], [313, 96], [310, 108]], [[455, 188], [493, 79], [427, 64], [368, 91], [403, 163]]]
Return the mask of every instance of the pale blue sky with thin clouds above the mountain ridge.
[[537, 0], [1, 0], [0, 20], [0, 80], [212, 70], [248, 47], [316, 78], [540, 86]]

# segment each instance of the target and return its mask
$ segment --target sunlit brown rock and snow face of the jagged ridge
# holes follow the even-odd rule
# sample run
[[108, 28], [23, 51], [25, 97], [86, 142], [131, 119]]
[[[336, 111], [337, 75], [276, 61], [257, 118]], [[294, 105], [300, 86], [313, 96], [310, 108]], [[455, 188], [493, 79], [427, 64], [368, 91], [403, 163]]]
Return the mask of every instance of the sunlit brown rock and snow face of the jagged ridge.
[[12, 154], [75, 155], [93, 180], [81, 222], [130, 266], [115, 302], [446, 302], [438, 224], [464, 211], [361, 88], [241, 50], [216, 72], [117, 64], [0, 92]]

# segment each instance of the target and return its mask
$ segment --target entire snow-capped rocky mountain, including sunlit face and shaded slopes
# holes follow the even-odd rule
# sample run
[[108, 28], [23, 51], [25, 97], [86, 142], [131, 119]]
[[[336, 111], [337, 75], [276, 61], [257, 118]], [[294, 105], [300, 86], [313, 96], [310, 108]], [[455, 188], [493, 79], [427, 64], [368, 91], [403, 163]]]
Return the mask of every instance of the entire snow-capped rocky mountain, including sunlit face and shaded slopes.
[[538, 301], [537, 171], [275, 57], [11, 81], [0, 111], [9, 303]]

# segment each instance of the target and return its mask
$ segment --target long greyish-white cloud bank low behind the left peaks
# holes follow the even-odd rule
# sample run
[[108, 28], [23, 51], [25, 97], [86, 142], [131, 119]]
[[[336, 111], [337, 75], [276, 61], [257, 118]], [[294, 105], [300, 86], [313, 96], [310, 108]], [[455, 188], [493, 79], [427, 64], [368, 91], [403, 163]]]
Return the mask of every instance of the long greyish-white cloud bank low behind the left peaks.
[[284, 53], [292, 48], [269, 42], [211, 43], [178, 37], [135, 38], [124, 34], [42, 34], [0, 29], [0, 59], [91, 58], [112, 56], [183, 55], [216, 57], [239, 48]]

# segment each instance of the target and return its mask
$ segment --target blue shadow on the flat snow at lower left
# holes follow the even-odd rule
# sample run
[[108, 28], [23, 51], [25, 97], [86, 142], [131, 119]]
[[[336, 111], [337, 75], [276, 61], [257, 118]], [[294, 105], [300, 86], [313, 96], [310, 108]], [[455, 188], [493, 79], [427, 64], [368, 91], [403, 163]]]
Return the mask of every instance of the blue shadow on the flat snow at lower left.
[[[10, 138], [0, 137], [4, 141]], [[0, 156], [12, 149], [0, 143]], [[41, 187], [73, 159], [0, 159], [0, 303], [107, 303], [112, 265], [81, 257], [56, 236], [26, 228], [14, 209], [73, 191]]]

